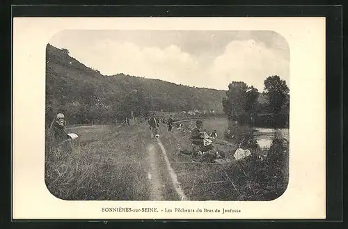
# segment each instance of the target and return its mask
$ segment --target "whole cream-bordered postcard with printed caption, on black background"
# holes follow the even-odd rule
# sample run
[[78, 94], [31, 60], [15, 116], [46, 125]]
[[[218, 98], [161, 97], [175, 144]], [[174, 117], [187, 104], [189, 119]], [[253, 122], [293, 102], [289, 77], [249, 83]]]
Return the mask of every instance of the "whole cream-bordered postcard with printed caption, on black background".
[[325, 219], [324, 17], [13, 28], [13, 219]]

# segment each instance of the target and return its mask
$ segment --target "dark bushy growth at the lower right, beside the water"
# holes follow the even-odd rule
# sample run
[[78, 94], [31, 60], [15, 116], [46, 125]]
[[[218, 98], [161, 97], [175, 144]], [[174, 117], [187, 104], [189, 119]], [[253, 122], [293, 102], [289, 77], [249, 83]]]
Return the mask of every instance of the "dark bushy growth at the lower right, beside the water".
[[[253, 153], [251, 157], [223, 168], [234, 179], [238, 190], [235, 199], [274, 200], [284, 193], [289, 181], [289, 150], [285, 141], [276, 136], [271, 148], [267, 150], [267, 157], [258, 157], [258, 154]], [[226, 190], [233, 190], [235, 187], [230, 184], [230, 188]]]

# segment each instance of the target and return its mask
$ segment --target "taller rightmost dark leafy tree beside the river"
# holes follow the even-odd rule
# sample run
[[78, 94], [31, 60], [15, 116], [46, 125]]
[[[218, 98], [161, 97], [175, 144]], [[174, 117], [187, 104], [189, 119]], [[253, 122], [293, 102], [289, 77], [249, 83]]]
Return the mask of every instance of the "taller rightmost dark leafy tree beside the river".
[[285, 80], [277, 75], [267, 77], [264, 80], [264, 90], [269, 100], [269, 109], [274, 113], [280, 113], [289, 96], [289, 88]]

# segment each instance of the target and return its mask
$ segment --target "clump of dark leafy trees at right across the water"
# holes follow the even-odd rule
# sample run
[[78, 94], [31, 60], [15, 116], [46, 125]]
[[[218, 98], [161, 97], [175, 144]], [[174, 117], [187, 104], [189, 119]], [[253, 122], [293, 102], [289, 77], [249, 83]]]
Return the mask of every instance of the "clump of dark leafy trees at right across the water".
[[[246, 122], [255, 120], [260, 114], [289, 116], [290, 95], [285, 80], [279, 76], [264, 80], [264, 92], [248, 86], [242, 81], [232, 81], [223, 98], [223, 111], [230, 120]], [[264, 99], [262, 101], [262, 98]]]

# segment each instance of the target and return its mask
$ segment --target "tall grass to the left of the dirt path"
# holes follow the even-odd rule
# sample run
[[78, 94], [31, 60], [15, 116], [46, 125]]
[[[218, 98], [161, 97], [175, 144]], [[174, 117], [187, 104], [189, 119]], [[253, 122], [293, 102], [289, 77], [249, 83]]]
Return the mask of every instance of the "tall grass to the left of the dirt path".
[[45, 182], [54, 196], [63, 200], [148, 199], [145, 168], [134, 163], [139, 155], [129, 153], [140, 143], [136, 134], [122, 129], [75, 130], [80, 140], [71, 143], [71, 153], [47, 143]]

